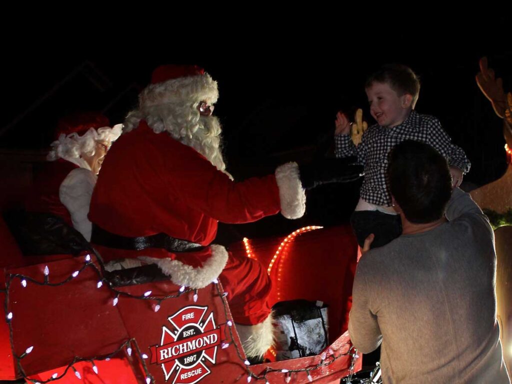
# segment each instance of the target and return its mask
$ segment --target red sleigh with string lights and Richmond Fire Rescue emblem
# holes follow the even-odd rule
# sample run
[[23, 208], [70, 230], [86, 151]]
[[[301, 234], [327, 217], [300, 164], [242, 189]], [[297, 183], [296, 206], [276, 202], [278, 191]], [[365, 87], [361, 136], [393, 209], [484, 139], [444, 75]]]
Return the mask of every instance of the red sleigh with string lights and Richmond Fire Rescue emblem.
[[0, 379], [338, 382], [361, 368], [346, 332], [357, 246], [346, 227], [296, 235], [246, 241], [231, 251], [252, 249], [250, 257], [268, 266], [271, 305], [296, 298], [329, 304], [334, 339], [316, 356], [248, 365], [220, 283], [198, 291], [168, 279], [116, 286], [94, 254], [22, 256], [0, 220], [6, 319], [0, 321]]

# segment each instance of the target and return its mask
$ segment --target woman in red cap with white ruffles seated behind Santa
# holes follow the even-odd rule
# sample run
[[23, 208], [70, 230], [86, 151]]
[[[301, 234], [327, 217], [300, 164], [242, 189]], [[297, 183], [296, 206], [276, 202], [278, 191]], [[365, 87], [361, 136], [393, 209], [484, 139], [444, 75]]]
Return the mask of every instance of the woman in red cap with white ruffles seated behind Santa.
[[36, 166], [25, 208], [50, 213], [91, 238], [89, 203], [97, 176], [82, 155], [94, 153], [96, 142], [105, 146], [121, 134], [121, 126], [108, 127], [109, 119], [98, 113], [80, 113], [59, 120], [57, 140], [46, 163]]

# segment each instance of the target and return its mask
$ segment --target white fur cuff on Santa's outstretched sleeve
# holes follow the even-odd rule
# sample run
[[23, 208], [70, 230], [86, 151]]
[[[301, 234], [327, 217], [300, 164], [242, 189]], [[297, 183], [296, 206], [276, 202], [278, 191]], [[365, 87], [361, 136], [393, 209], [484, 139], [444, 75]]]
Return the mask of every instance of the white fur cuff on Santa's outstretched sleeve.
[[281, 214], [289, 219], [302, 217], [306, 212], [306, 193], [297, 163], [286, 163], [276, 168], [275, 180], [279, 187]]

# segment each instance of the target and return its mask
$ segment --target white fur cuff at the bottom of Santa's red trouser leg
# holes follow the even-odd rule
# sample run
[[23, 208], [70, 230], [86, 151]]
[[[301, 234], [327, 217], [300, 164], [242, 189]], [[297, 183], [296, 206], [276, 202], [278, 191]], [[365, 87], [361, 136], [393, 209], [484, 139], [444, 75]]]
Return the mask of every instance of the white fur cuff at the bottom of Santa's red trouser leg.
[[248, 357], [261, 357], [274, 343], [272, 313], [260, 324], [244, 326], [236, 324], [244, 352]]

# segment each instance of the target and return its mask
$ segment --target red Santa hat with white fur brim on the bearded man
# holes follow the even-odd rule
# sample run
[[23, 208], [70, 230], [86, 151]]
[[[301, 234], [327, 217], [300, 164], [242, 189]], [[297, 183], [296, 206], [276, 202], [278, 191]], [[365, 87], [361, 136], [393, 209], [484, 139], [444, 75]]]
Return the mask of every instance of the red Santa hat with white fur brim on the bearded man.
[[141, 109], [169, 103], [217, 102], [217, 82], [196, 65], [163, 65], [153, 71], [151, 84], [139, 95]]

